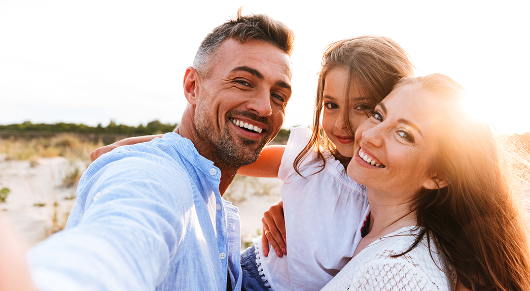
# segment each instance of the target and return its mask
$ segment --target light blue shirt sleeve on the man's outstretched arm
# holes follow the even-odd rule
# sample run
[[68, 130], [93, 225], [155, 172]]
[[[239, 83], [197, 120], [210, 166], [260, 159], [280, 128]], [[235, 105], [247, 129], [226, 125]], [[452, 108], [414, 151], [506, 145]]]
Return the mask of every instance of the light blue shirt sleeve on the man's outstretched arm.
[[79, 223], [28, 253], [40, 291], [154, 290], [178, 251], [191, 190], [174, 177], [185, 175], [138, 158], [102, 171], [86, 181]]

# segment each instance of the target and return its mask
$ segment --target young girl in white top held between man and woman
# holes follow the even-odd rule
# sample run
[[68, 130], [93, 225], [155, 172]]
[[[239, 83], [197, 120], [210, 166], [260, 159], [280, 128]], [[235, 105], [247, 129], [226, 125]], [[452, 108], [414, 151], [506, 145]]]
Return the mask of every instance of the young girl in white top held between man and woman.
[[[365, 188], [345, 171], [354, 133], [396, 81], [412, 74], [408, 54], [389, 38], [345, 39], [326, 49], [313, 130], [291, 129], [287, 145], [264, 148], [258, 161], [240, 169], [242, 175], [284, 181], [281, 198], [289, 234], [288, 256], [282, 256], [285, 244], [283, 253], [266, 256], [268, 245], [260, 239], [242, 253], [243, 290], [320, 290], [348, 263], [368, 213]], [[145, 137], [120, 141], [94, 154], [142, 141]], [[264, 234], [272, 239], [270, 231]]]

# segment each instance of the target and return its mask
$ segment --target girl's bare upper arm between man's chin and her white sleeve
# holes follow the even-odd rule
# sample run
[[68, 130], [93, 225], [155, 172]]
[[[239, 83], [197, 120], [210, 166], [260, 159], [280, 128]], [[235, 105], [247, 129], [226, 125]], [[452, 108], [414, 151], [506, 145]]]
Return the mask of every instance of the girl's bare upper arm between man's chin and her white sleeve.
[[276, 178], [285, 145], [267, 145], [254, 163], [239, 168], [237, 174], [250, 177]]

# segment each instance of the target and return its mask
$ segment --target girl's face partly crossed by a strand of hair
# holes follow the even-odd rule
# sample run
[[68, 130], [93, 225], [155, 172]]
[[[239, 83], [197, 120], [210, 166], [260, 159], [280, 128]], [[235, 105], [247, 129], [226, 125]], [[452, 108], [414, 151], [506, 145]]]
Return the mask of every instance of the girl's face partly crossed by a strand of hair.
[[326, 136], [337, 147], [342, 156], [354, 156], [354, 137], [348, 133], [345, 118], [349, 118], [351, 131], [355, 132], [357, 127], [365, 121], [368, 116], [366, 111], [370, 110], [367, 98], [360, 96], [356, 84], [350, 87], [349, 107], [345, 106], [345, 94], [348, 79], [346, 69], [333, 69], [326, 74], [324, 83], [324, 112], [322, 114], [322, 128]]

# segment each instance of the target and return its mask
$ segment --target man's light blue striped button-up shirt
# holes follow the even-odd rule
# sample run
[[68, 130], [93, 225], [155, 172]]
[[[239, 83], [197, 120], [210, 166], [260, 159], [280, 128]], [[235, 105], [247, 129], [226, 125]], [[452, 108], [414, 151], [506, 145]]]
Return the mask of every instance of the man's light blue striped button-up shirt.
[[219, 194], [220, 170], [176, 133], [94, 161], [77, 187], [66, 230], [28, 253], [48, 290], [241, 289], [237, 208]]

